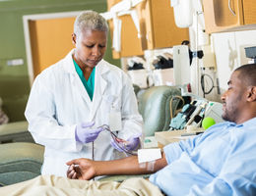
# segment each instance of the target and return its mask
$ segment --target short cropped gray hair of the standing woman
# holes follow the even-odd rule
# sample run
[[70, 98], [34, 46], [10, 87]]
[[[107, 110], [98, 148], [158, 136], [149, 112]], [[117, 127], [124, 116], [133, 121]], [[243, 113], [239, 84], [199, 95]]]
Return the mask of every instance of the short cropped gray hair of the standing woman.
[[107, 32], [108, 25], [101, 15], [95, 11], [88, 10], [77, 16], [74, 24], [74, 33], [79, 36], [85, 29]]

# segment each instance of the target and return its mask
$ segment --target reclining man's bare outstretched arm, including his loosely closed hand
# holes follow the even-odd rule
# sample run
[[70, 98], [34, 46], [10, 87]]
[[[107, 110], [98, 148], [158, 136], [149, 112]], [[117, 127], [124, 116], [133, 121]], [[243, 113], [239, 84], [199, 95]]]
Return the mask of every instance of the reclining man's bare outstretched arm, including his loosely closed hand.
[[[91, 179], [98, 175], [112, 174], [144, 174], [157, 172], [167, 165], [165, 155], [154, 163], [139, 164], [137, 156], [113, 161], [92, 161], [89, 159], [76, 159], [67, 163], [69, 170], [67, 177], [72, 179]], [[151, 165], [149, 167], [149, 165]]]

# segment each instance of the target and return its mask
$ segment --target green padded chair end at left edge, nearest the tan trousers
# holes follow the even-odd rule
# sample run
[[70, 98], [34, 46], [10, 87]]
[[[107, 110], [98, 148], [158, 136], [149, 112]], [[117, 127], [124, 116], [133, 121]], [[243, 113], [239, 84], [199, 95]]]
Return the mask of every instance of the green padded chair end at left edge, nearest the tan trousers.
[[39, 175], [43, 151], [43, 146], [28, 142], [0, 144], [0, 186]]

